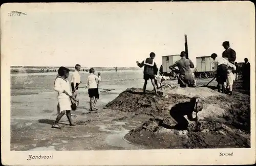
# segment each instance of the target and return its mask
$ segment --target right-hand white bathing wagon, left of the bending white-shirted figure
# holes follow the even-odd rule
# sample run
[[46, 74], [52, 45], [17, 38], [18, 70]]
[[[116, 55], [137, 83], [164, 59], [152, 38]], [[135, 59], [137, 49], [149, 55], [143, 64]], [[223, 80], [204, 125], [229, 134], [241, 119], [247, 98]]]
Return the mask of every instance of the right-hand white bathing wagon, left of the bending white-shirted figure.
[[197, 57], [197, 78], [211, 78], [214, 72], [214, 59], [210, 56]]

